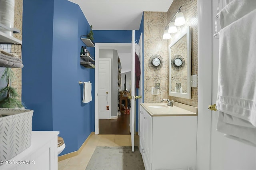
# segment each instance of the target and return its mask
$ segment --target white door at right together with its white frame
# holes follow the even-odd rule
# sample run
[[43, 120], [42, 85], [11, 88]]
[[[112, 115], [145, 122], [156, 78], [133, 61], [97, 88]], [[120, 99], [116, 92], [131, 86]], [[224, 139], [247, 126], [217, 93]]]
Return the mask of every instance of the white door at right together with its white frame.
[[[224, 1], [220, 1], [220, 4], [222, 2]], [[218, 37], [213, 38], [217, 7], [217, 0], [198, 0], [198, 147], [196, 169], [255, 170], [256, 148], [224, 137], [223, 133], [216, 130], [219, 111], [208, 110], [208, 105], [216, 103], [218, 89], [219, 39]], [[220, 5], [221, 9], [222, 6]], [[217, 30], [220, 31], [219, 25]]]

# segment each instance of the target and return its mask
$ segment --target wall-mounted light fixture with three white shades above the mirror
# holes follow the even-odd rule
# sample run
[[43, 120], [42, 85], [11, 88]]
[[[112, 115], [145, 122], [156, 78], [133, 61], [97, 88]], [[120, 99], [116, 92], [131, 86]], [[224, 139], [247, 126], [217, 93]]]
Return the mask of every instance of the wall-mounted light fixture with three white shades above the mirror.
[[[173, 33], [177, 32], [177, 27], [176, 26], [182, 26], [182, 25], [185, 24], [184, 15], [183, 15], [183, 13], [180, 10], [181, 8], [182, 8], [182, 6], [180, 6], [178, 11], [171, 18], [171, 21], [169, 22], [169, 24], [166, 26], [166, 28], [164, 30], [163, 39], [165, 39], [165, 40], [170, 39], [171, 38], [170, 34], [173, 34]], [[175, 18], [175, 21], [173, 22], [174, 18]]]

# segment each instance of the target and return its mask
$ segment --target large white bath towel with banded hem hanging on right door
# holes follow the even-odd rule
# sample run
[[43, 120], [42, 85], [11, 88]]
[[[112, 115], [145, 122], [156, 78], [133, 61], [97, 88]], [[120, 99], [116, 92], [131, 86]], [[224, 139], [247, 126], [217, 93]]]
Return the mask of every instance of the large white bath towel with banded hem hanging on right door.
[[256, 9], [220, 30], [216, 101], [217, 130], [252, 146], [256, 146], [255, 16]]

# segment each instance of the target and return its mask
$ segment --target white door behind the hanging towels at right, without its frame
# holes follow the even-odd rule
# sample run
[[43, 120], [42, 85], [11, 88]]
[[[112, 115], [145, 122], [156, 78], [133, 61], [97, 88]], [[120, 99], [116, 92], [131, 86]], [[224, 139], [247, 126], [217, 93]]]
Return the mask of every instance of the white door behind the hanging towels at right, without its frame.
[[[214, 26], [218, 1], [212, 1], [212, 25]], [[220, 9], [222, 5], [220, 2]], [[214, 28], [214, 27], [212, 27]], [[218, 28], [220, 30], [220, 28]], [[212, 35], [214, 29], [212, 29]], [[240, 33], [244, 34], [244, 33]], [[212, 104], [216, 103], [218, 89], [219, 39], [212, 38]], [[210, 103], [211, 104], [211, 103]], [[207, 105], [206, 105], [207, 107]], [[210, 169], [256, 170], [256, 148], [224, 137], [216, 130], [219, 111], [212, 111]]]

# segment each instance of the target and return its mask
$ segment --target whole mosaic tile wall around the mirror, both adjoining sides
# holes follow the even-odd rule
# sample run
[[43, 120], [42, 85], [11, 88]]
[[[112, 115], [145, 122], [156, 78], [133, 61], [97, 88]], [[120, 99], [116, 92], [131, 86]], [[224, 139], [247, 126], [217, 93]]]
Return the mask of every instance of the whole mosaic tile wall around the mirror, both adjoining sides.
[[[198, 74], [198, 42], [197, 42], [197, 0], [174, 0], [168, 12], [144, 12], [144, 102], [160, 103], [161, 99], [174, 101], [197, 107], [197, 87], [191, 88], [192, 99], [183, 99], [168, 95], [168, 45], [177, 34], [172, 34], [169, 40], [162, 39], [164, 29], [171, 18], [182, 6], [186, 24], [177, 27], [178, 32], [190, 26], [191, 28], [191, 75]], [[148, 59], [159, 54], [164, 59], [164, 64], [159, 70], [149, 67]], [[159, 95], [151, 95], [151, 87], [154, 83], [160, 83]]]

